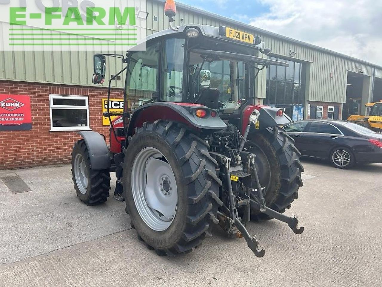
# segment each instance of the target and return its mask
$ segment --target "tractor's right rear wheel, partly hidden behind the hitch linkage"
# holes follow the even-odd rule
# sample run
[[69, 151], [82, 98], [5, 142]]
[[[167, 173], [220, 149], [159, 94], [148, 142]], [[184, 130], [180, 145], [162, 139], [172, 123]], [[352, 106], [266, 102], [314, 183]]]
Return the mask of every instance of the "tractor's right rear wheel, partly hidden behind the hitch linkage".
[[[295, 141], [280, 127], [269, 127], [248, 137], [247, 149], [256, 155], [256, 169], [262, 187], [265, 188], [267, 206], [283, 213], [298, 198], [303, 186], [300, 162], [301, 153]], [[269, 220], [268, 215], [251, 209], [251, 220]]]

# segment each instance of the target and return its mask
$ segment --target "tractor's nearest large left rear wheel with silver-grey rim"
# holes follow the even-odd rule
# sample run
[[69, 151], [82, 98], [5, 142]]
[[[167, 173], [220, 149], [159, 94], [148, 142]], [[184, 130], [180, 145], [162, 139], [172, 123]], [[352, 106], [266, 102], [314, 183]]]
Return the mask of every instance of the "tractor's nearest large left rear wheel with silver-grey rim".
[[125, 151], [126, 212], [139, 239], [159, 255], [201, 244], [218, 223], [217, 162], [207, 144], [172, 122], [145, 123]]

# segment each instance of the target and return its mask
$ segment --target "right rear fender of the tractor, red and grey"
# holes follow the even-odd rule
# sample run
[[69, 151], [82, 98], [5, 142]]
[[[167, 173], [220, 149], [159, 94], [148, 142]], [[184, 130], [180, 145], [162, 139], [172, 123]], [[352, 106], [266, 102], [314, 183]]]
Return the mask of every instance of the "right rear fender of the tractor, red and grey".
[[258, 130], [264, 130], [268, 127], [275, 127], [275, 126], [286, 126], [287, 124], [290, 124], [292, 120], [290, 117], [288, 117], [286, 114], [283, 114], [281, 117], [277, 116], [276, 113], [280, 110], [280, 108], [273, 108], [269, 106], [247, 106], [243, 110], [243, 116], [242, 116], [242, 126], [241, 126], [241, 133], [244, 134], [248, 121], [249, 116], [252, 114], [252, 112], [257, 109], [257, 111], [260, 112], [259, 117], [259, 129]]

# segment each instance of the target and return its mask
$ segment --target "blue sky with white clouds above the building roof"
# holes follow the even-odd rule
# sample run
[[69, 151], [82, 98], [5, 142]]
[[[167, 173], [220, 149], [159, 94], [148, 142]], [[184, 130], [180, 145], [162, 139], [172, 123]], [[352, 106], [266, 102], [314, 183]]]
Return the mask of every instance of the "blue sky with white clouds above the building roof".
[[382, 0], [178, 2], [382, 66]]

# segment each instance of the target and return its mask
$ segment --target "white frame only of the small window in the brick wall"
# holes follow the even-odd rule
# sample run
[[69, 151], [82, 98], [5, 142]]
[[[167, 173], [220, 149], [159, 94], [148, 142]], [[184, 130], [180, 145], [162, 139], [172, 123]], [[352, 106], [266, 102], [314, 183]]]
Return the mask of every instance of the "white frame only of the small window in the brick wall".
[[[85, 100], [85, 106], [65, 106], [53, 105], [53, 99], [78, 99]], [[85, 127], [53, 127], [52, 109], [86, 109], [87, 125]], [[71, 130], [91, 130], [89, 120], [89, 96], [72, 96], [72, 95], [49, 95], [49, 111], [50, 111], [50, 131], [71, 131]]]

